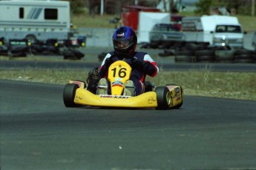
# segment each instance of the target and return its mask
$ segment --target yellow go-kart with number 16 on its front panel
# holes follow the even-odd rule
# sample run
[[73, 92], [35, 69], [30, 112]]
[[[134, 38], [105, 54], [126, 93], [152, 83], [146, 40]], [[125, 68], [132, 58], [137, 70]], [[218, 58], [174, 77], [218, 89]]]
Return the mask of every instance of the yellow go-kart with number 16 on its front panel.
[[146, 88], [141, 95], [124, 95], [125, 83], [131, 75], [131, 66], [125, 61], [116, 61], [108, 68], [111, 95], [97, 95], [88, 89], [85, 81], [69, 81], [65, 85], [63, 101], [67, 107], [99, 106], [119, 108], [178, 109], [183, 105], [183, 88], [167, 84]]

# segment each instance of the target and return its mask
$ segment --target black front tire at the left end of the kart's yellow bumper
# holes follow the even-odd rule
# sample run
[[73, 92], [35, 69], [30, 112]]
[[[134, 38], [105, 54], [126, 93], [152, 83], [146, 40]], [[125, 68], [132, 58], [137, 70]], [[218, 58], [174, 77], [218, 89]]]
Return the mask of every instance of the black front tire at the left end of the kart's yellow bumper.
[[76, 95], [76, 89], [79, 86], [77, 84], [66, 84], [63, 91], [63, 102], [66, 107], [76, 107], [78, 106], [76, 103], [73, 103], [73, 100]]

